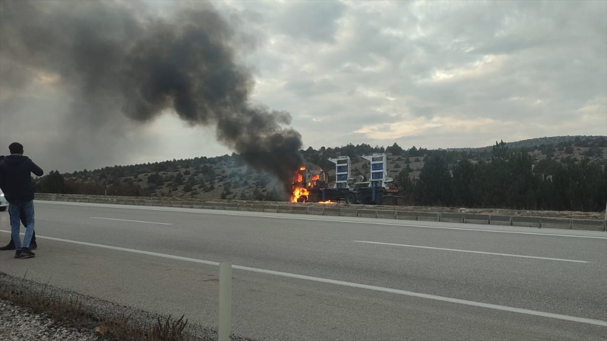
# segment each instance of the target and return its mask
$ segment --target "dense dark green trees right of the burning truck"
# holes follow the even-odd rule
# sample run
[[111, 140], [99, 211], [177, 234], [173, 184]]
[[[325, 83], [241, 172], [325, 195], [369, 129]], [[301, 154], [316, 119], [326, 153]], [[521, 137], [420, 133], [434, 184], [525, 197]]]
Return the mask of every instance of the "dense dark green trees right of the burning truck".
[[[451, 169], [450, 169], [451, 168]], [[419, 177], [407, 167], [398, 174], [399, 192], [409, 204], [549, 211], [603, 211], [607, 201], [605, 164], [589, 158], [551, 158], [535, 166], [527, 150], [493, 146], [490, 160], [458, 160], [434, 153]]]

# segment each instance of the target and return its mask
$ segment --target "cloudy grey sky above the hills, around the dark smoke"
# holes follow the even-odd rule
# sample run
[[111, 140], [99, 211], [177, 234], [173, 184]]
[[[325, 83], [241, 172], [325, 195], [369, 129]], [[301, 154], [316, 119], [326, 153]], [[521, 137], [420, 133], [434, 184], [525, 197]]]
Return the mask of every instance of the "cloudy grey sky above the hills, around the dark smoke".
[[[39, 10], [49, 18], [44, 30], [61, 26], [53, 13], [105, 13], [93, 11], [92, 2], [79, 3], [53, 2]], [[171, 26], [178, 22], [171, 21], [175, 13], [200, 3], [104, 6], [121, 7], [118, 18], [132, 15], [146, 22], [137, 30], [152, 31], [152, 20], [166, 19]], [[483, 147], [499, 140], [607, 135], [607, 1], [209, 4], [230, 32], [222, 39], [246, 75], [247, 106], [287, 112], [290, 120], [277, 122], [300, 133], [303, 149], [395, 142], [404, 148]], [[2, 7], [8, 7], [4, 1]], [[27, 21], [24, 12], [5, 12]], [[114, 12], [107, 13], [78, 15], [76, 27], [112, 23]], [[32, 50], [29, 42], [14, 42], [15, 37], [29, 41], [33, 33], [24, 30], [30, 28], [3, 21], [0, 38], [11, 44], [0, 44], [0, 154], [19, 141], [25, 155], [47, 172], [72, 172], [237, 150], [232, 141], [218, 139], [223, 130], [215, 116], [192, 121], [163, 102], [154, 115], [140, 119], [124, 109], [126, 100], [108, 100], [117, 94], [87, 92], [98, 84], [82, 83], [80, 74], [70, 71], [79, 66], [64, 65], [81, 60], [72, 59], [67, 48], [78, 35], [43, 40], [64, 44], [56, 49]], [[205, 22], [212, 30], [214, 21]], [[99, 26], [101, 33], [95, 34], [107, 27], [108, 36], [127, 35], [128, 26], [122, 31], [116, 26]], [[137, 44], [124, 49], [128, 54]], [[53, 62], [32, 55], [52, 56]], [[101, 51], [87, 60], [104, 56]], [[112, 75], [100, 60], [87, 77]], [[129, 82], [120, 77], [120, 84]], [[81, 114], [87, 106], [103, 114]]]

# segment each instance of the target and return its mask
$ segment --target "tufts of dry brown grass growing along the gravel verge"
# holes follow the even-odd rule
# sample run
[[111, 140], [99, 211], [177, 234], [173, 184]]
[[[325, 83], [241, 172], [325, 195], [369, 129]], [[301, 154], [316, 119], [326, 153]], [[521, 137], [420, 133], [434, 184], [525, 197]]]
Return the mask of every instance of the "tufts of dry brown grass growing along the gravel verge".
[[100, 320], [83, 309], [80, 297], [64, 297], [48, 285], [42, 289], [16, 288], [10, 285], [0, 286], [0, 299], [15, 305], [24, 306], [35, 312], [43, 312], [66, 326], [79, 329], [94, 328], [99, 340], [123, 341], [188, 341], [192, 340], [184, 333], [188, 320], [158, 317], [155, 322], [138, 322], [129, 316]]

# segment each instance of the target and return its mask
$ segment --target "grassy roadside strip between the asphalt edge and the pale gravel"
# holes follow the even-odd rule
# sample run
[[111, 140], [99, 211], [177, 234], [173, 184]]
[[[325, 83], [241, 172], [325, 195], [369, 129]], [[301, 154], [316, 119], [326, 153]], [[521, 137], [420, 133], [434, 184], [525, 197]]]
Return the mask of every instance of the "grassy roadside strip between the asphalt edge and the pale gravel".
[[[16, 279], [0, 272], [0, 299], [44, 313], [59, 324], [80, 331], [94, 331], [97, 340], [123, 341], [191, 341], [211, 340], [211, 336], [194, 337], [186, 333], [184, 316], [145, 316], [140, 311], [121, 307], [120, 312], [101, 312], [86, 304], [87, 297]], [[109, 303], [109, 302], [106, 302]], [[125, 309], [126, 308], [126, 309]], [[149, 315], [149, 314], [146, 314]]]

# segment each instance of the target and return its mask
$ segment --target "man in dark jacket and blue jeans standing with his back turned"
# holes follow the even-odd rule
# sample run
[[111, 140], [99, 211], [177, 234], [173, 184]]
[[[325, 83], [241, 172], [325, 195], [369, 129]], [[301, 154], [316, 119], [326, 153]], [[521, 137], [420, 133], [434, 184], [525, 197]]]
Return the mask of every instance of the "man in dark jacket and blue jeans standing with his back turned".
[[[34, 232], [34, 186], [32, 173], [41, 177], [44, 172], [29, 157], [23, 156], [21, 143], [13, 142], [8, 146], [10, 155], [0, 163], [0, 188], [8, 201], [10, 215], [10, 233], [15, 243], [15, 258], [34, 257], [30, 242]], [[25, 212], [25, 237], [21, 244], [19, 237], [19, 212]]]

